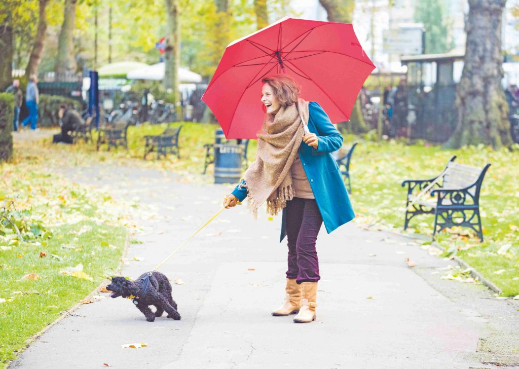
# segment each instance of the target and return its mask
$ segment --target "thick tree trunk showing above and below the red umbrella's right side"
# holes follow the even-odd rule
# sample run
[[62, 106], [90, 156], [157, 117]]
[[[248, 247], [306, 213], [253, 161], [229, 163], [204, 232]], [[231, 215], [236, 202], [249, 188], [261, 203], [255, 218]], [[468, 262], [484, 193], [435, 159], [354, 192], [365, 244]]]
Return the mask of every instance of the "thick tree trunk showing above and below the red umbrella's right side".
[[[319, 2], [326, 10], [329, 22], [351, 23], [353, 21], [355, 0], [319, 0]], [[360, 97], [357, 97], [353, 105], [348, 127], [354, 133], [365, 133], [368, 130], [362, 115]]]

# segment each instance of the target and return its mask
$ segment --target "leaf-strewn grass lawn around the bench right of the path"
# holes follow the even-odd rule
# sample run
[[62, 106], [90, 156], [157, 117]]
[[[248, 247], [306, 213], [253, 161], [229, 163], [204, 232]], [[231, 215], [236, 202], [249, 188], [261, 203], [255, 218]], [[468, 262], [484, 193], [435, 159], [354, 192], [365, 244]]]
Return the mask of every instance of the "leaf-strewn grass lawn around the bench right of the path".
[[[349, 136], [345, 141], [358, 140]], [[383, 223], [387, 228], [402, 230], [406, 179], [427, 179], [438, 175], [447, 161], [483, 168], [491, 163], [483, 181], [480, 207], [485, 241], [465, 228], [454, 229], [436, 237], [448, 252], [457, 254], [469, 265], [494, 282], [504, 296], [519, 295], [519, 152], [508, 149], [493, 151], [488, 147], [466, 147], [444, 150], [424, 143], [361, 142], [353, 154], [351, 199], [354, 209], [367, 223]], [[421, 215], [410, 223], [411, 233], [432, 235], [433, 215]]]

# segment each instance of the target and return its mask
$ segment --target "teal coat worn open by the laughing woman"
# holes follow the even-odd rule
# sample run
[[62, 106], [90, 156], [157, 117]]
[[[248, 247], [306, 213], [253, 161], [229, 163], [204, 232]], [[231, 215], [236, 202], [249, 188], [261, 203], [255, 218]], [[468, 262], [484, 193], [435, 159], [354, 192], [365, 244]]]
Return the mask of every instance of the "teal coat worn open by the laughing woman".
[[[330, 153], [343, 145], [343, 136], [337, 131], [322, 107], [316, 102], [308, 104], [310, 118], [308, 129], [319, 140], [317, 150], [302, 142], [299, 157], [316, 198], [326, 231], [331, 233], [337, 227], [351, 221], [355, 214], [344, 185], [343, 177], [335, 159]], [[242, 181], [240, 184], [245, 184]], [[247, 189], [240, 185], [233, 191], [239, 201], [247, 197]], [[283, 209], [280, 242], [286, 236], [286, 213]]]

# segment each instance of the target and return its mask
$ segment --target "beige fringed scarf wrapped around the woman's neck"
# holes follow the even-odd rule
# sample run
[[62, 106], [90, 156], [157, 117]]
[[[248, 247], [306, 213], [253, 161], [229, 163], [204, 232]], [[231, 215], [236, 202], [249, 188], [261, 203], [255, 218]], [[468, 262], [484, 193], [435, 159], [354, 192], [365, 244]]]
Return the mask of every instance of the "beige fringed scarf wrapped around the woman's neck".
[[[297, 106], [308, 122], [308, 102], [299, 99]], [[265, 114], [257, 134], [256, 158], [244, 175], [249, 209], [257, 217], [257, 209], [267, 201], [267, 213], [276, 215], [292, 200], [290, 167], [296, 158], [304, 131], [296, 104], [281, 107], [276, 115]]]

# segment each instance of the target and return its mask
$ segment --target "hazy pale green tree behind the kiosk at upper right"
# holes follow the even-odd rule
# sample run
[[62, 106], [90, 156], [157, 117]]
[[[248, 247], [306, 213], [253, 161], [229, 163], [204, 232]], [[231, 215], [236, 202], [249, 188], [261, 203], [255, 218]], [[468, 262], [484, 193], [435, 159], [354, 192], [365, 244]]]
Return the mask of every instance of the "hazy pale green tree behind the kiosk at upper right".
[[447, 44], [448, 28], [443, 16], [440, 0], [422, 0], [416, 3], [415, 20], [424, 23], [425, 52], [442, 53], [453, 47], [453, 42]]

